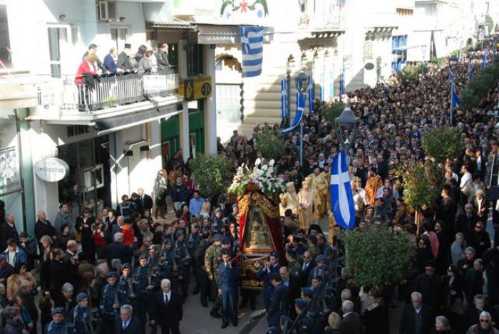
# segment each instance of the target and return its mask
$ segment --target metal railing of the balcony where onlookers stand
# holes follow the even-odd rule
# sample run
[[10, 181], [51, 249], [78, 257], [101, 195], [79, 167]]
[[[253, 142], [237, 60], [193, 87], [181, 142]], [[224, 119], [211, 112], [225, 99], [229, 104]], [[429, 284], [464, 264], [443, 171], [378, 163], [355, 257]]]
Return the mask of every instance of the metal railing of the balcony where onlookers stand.
[[61, 75], [61, 78], [46, 75], [43, 83], [38, 84], [39, 108], [58, 113], [92, 112], [178, 93], [178, 73], [132, 73], [82, 79], [82, 84], [77, 84], [74, 75]]

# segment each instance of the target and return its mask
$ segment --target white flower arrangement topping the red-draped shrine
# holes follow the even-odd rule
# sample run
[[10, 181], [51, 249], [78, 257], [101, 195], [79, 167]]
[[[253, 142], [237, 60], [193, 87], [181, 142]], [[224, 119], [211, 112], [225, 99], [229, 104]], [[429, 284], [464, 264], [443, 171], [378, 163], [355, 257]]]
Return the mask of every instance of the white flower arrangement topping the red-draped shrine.
[[237, 168], [236, 174], [232, 179], [228, 192], [241, 196], [245, 194], [248, 184], [254, 184], [263, 192], [270, 192], [278, 195], [286, 191], [284, 180], [277, 177], [274, 173], [274, 160], [270, 160], [268, 165], [263, 165], [259, 168], [262, 161], [257, 159], [254, 162], [253, 169], [249, 169], [246, 165]]

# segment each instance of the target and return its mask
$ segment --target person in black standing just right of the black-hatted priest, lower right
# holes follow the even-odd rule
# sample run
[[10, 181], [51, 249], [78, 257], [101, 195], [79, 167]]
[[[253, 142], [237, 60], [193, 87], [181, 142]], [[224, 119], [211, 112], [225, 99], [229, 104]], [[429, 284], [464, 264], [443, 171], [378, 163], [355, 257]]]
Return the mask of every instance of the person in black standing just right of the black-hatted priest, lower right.
[[464, 281], [461, 270], [457, 266], [449, 266], [444, 282], [446, 314], [451, 322], [451, 327], [461, 333], [462, 318], [466, 310], [466, 298], [464, 298], [463, 293]]

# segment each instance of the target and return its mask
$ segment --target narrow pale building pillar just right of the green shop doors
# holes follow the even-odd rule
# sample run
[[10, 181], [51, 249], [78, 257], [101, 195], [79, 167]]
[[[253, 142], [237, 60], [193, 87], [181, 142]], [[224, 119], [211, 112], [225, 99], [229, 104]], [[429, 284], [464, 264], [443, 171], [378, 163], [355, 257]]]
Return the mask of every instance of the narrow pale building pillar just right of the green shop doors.
[[212, 78], [212, 95], [205, 102], [205, 151], [207, 155], [217, 153], [217, 96], [215, 89], [215, 48], [205, 46], [206, 74]]

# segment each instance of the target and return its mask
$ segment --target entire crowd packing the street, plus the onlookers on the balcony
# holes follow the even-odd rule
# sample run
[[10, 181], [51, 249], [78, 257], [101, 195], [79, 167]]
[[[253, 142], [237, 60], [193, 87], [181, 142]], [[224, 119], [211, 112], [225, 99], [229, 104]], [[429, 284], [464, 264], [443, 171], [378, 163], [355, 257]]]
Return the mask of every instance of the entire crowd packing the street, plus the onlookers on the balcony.
[[[120, 57], [117, 68], [123, 65]], [[480, 52], [475, 57], [477, 71]], [[452, 64], [458, 87], [465, 85], [467, 61]], [[279, 204], [285, 259], [268, 255], [256, 275], [262, 293], [240, 289], [235, 197], [200, 194], [179, 150], [158, 171], [152, 194], [143, 189], [123, 194], [115, 209], [95, 214], [81, 206], [73, 219], [63, 203], [53, 224], [38, 212], [34, 234], [18, 234], [14, 215], [6, 214], [0, 227], [4, 333], [36, 333], [38, 320], [43, 333], [51, 334], [144, 333], [158, 325], [162, 333], [180, 333], [182, 304], [195, 294], [203, 307], [212, 301], [210, 315], [221, 319], [222, 328], [237, 326], [239, 310], [254, 310], [262, 296], [269, 333], [390, 333], [389, 309], [399, 301], [407, 302], [401, 334], [499, 333], [499, 233], [488, 234], [497, 230], [498, 208], [487, 198], [490, 182], [498, 182], [490, 174], [499, 164], [493, 112], [499, 93], [492, 89], [480, 108], [456, 110], [463, 154], [446, 162], [441, 201], [423, 207], [418, 234], [395, 170], [425, 160], [421, 139], [451, 122], [448, 67], [426, 68], [423, 80], [379, 83], [346, 100], [360, 117], [349, 166], [356, 229], [390, 229], [406, 236], [413, 249], [411, 270], [397, 286], [357, 286], [345, 268], [328, 193], [329, 166], [341, 143], [317, 102], [304, 118], [304, 164], [298, 159], [299, 136], [292, 133], [284, 137], [285, 155], [274, 165], [287, 184]], [[280, 127], [258, 126], [249, 140], [234, 132], [227, 145], [219, 140], [218, 150], [235, 167], [264, 164], [272, 157], [257, 150], [257, 134], [280, 135]], [[169, 210], [175, 218], [165, 219]], [[323, 219], [328, 231], [318, 224]]]

